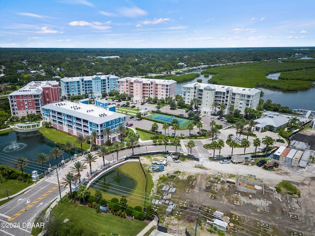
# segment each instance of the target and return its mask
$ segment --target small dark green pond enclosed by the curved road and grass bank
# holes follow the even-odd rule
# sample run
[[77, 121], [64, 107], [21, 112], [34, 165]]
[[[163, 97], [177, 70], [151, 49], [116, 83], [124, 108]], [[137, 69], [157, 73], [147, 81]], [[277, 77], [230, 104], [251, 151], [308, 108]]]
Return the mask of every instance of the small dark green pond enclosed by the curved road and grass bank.
[[134, 188], [135, 181], [118, 171], [111, 171], [98, 178], [92, 188], [113, 195], [128, 195]]

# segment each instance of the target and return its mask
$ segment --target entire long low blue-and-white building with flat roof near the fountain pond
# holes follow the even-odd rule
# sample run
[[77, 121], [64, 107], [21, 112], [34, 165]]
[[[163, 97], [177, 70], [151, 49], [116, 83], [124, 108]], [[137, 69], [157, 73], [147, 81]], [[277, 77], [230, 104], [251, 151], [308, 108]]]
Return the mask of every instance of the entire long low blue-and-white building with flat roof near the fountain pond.
[[54, 128], [74, 136], [81, 134], [86, 137], [96, 131], [99, 134], [99, 138], [96, 139], [97, 145], [107, 141], [107, 135], [104, 134], [107, 127], [113, 131], [109, 140], [111, 142], [119, 140], [120, 134], [117, 128], [120, 125], [126, 126], [127, 121], [126, 115], [109, 111], [108, 107], [102, 108], [70, 101], [42, 106], [41, 114], [43, 121], [52, 122]]

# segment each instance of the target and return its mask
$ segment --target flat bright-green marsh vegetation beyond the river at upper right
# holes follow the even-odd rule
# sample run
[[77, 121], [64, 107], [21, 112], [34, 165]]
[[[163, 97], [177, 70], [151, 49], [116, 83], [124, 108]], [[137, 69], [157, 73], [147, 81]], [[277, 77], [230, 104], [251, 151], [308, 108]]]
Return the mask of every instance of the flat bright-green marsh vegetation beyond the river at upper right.
[[[313, 73], [312, 68], [315, 68], [315, 63], [312, 61], [283, 63], [268, 61], [220, 66], [204, 70], [202, 73], [214, 75], [211, 82], [218, 85], [301, 90], [311, 88], [314, 76], [310, 76], [309, 74]], [[266, 75], [277, 72], [285, 72], [283, 79], [281, 77], [279, 80], [266, 78]], [[291, 72], [294, 73], [294, 78], [288, 78], [287, 73]]]

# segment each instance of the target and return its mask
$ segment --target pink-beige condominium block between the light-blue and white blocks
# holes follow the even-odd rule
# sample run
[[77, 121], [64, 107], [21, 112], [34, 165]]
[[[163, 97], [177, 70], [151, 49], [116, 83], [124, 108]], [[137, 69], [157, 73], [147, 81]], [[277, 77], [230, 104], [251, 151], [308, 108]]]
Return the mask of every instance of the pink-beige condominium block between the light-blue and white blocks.
[[126, 77], [117, 80], [117, 90], [119, 93], [131, 94], [131, 100], [137, 103], [146, 102], [149, 96], [158, 99], [175, 98], [176, 81]]

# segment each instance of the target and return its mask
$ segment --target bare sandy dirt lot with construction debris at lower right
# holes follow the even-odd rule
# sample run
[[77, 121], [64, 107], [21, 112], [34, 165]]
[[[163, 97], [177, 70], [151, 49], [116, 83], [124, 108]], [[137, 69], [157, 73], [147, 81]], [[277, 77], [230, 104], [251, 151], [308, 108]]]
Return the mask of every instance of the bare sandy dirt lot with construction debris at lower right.
[[[141, 159], [142, 163], [150, 164], [150, 160]], [[201, 168], [195, 168], [201, 164]], [[167, 218], [161, 220], [161, 225], [166, 227], [177, 227], [181, 232], [185, 228], [190, 229], [196, 221], [196, 208], [201, 206], [201, 212], [213, 213], [219, 210], [230, 217], [230, 221], [237, 228], [237, 235], [278, 235], [291, 236], [293, 230], [303, 232], [304, 236], [315, 236], [315, 165], [309, 164], [306, 169], [293, 167], [284, 163], [280, 164], [281, 171], [266, 171], [257, 166], [241, 164], [220, 164], [219, 162], [195, 162], [185, 161], [171, 163], [165, 167], [162, 173], [153, 173], [155, 183], [158, 178], [164, 178], [160, 185], [156, 185], [154, 198], [162, 195], [160, 189], [163, 185], [176, 187], [178, 190], [170, 201], [178, 205]], [[175, 174], [174, 174], [175, 172]], [[252, 177], [248, 177], [252, 175]], [[253, 177], [255, 176], [255, 177]], [[255, 194], [241, 192], [234, 184], [226, 183], [227, 178], [238, 179], [238, 177], [249, 178], [254, 181], [262, 181], [264, 186], [275, 187], [281, 181], [288, 181], [294, 184], [301, 191], [301, 198], [292, 198], [285, 194], [277, 194], [272, 191], [265, 191], [262, 194], [262, 187], [255, 186]], [[245, 183], [242, 182], [244, 187]], [[252, 195], [250, 199], [249, 195]], [[193, 207], [191, 209], [189, 207]], [[286, 208], [282, 212], [281, 207]], [[182, 210], [179, 210], [179, 209]], [[299, 217], [299, 220], [290, 219], [292, 212]], [[208, 214], [205, 216], [209, 216]], [[293, 215], [294, 216], [294, 215]], [[201, 217], [197, 235], [208, 235], [206, 217]], [[211, 219], [210, 219], [211, 220]], [[270, 223], [270, 229], [260, 227], [260, 221]], [[207, 233], [206, 233], [207, 232]], [[228, 232], [225, 233], [227, 235]]]

